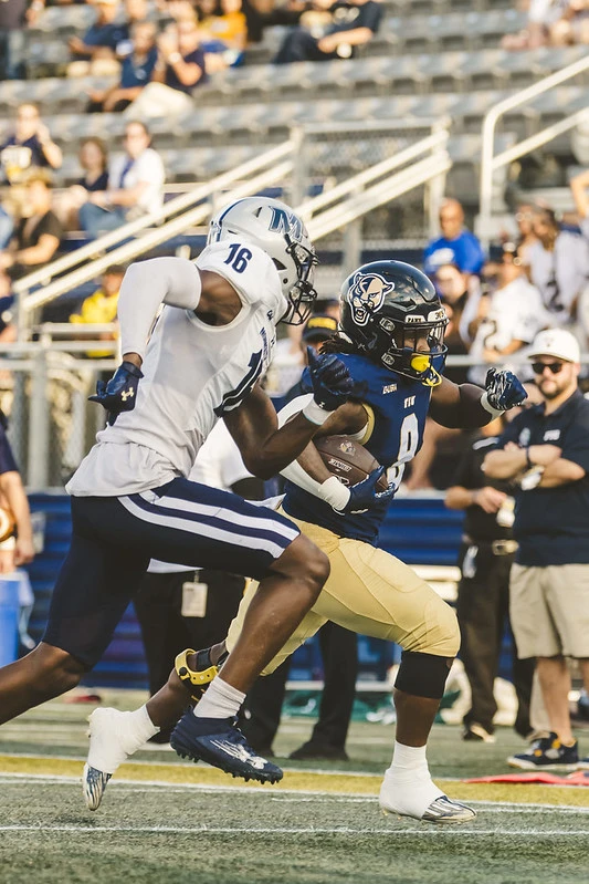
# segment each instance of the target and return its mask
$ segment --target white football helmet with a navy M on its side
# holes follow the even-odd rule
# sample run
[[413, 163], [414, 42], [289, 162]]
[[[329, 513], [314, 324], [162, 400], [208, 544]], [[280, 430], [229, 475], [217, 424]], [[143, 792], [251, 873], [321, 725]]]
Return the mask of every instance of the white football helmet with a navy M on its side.
[[298, 215], [277, 199], [238, 199], [211, 219], [207, 242], [234, 237], [263, 249], [274, 261], [288, 301], [288, 310], [281, 322], [288, 325], [305, 322], [317, 298], [313, 288], [317, 257]]

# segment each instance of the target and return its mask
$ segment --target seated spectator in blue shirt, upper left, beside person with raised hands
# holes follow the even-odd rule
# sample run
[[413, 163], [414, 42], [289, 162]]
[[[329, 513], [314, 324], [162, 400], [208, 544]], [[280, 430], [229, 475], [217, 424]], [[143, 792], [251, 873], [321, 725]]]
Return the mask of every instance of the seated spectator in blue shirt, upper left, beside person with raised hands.
[[151, 80], [158, 59], [156, 33], [156, 25], [150, 21], [132, 27], [130, 52], [120, 63], [120, 80], [116, 86], [90, 93], [90, 113], [124, 111], [139, 96]]

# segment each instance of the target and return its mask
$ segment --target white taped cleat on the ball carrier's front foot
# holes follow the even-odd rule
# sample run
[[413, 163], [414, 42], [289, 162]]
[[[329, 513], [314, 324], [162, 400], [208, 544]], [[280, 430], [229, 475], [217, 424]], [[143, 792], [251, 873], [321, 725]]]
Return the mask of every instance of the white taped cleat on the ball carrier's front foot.
[[379, 797], [383, 813], [411, 817], [413, 820], [435, 823], [465, 823], [476, 818], [466, 804], [448, 798], [431, 777], [399, 782], [389, 771], [385, 774]]

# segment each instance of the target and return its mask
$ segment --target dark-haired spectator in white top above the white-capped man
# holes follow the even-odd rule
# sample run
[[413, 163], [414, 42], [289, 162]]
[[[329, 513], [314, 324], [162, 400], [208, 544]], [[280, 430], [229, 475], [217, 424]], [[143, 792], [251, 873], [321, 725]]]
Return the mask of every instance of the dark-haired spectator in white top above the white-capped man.
[[526, 252], [529, 277], [539, 290], [551, 325], [569, 325], [589, 277], [589, 243], [570, 230], [560, 230], [551, 209], [534, 209], [538, 242]]

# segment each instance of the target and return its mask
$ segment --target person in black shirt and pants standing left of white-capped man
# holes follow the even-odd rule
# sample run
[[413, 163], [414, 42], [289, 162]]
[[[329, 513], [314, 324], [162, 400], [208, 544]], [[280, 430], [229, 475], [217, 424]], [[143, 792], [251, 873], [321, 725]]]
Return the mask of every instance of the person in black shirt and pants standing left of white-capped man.
[[[505, 426], [502, 416], [471, 434], [469, 448], [445, 495], [449, 509], [465, 510], [456, 614], [462, 635], [460, 656], [471, 686], [471, 708], [463, 719], [462, 738], [482, 742], [495, 741], [493, 719], [497, 704], [493, 686], [509, 614], [509, 572], [517, 543], [512, 532], [511, 485], [505, 479], [488, 479], [481, 467]], [[519, 661], [514, 647], [513, 680], [518, 701], [515, 730], [524, 738], [532, 730], [534, 668], [535, 661]]]

